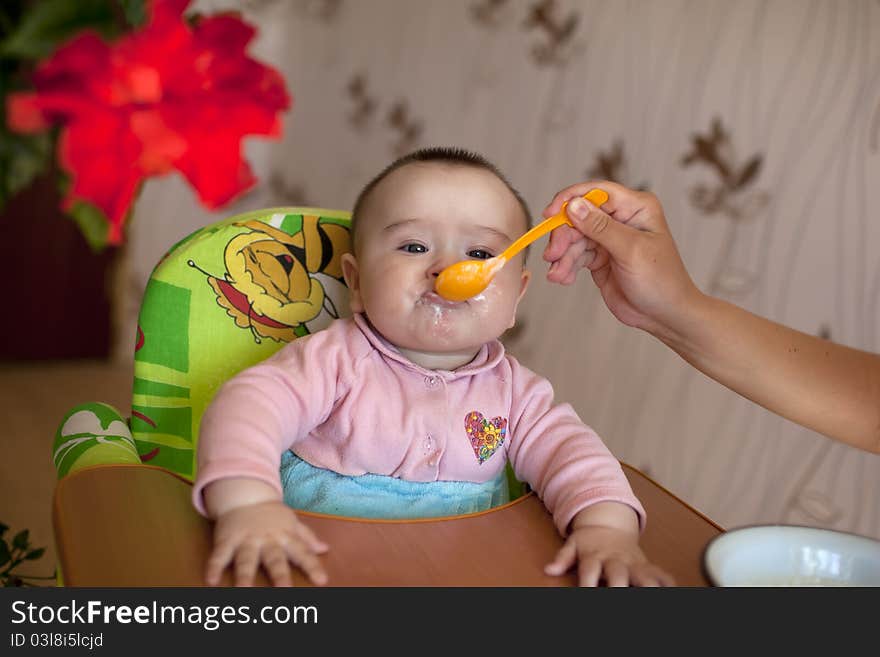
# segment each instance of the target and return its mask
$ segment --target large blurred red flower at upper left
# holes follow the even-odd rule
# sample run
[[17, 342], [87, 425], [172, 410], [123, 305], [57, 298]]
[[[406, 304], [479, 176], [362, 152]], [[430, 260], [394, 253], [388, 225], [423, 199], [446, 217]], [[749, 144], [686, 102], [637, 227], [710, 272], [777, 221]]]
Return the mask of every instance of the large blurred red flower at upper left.
[[209, 208], [251, 187], [241, 140], [279, 136], [278, 113], [290, 107], [281, 75], [245, 54], [254, 28], [233, 15], [190, 25], [189, 2], [152, 0], [146, 26], [113, 44], [81, 34], [36, 70], [35, 92], [9, 97], [13, 130], [61, 126], [64, 207], [100, 208], [111, 244], [150, 176], [177, 169]]

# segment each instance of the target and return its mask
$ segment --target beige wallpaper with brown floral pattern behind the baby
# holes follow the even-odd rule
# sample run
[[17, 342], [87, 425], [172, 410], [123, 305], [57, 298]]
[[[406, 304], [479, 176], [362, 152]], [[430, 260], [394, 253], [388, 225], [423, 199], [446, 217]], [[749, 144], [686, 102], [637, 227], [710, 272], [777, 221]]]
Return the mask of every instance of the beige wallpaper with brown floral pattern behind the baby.
[[[254, 50], [294, 96], [284, 140], [248, 146], [262, 185], [222, 216], [349, 208], [397, 155], [457, 144], [498, 164], [536, 216], [590, 176], [650, 189], [704, 290], [880, 351], [880, 0], [195, 6], [259, 25]], [[137, 215], [123, 335], [164, 248], [219, 218], [174, 178], [148, 184]], [[588, 277], [546, 283], [540, 252], [509, 347], [619, 458], [727, 527], [880, 537], [880, 457], [709, 381], [617, 324]]]

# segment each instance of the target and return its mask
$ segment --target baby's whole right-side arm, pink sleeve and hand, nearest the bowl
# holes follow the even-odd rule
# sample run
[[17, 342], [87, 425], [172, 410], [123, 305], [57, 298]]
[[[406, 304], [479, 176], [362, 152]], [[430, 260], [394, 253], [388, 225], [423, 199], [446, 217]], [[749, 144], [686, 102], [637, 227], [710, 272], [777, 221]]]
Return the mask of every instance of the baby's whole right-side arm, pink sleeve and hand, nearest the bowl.
[[554, 402], [550, 382], [511, 360], [514, 470], [553, 513], [566, 537], [546, 572], [576, 563], [582, 586], [672, 584], [639, 548], [645, 513], [620, 462], [569, 404]]

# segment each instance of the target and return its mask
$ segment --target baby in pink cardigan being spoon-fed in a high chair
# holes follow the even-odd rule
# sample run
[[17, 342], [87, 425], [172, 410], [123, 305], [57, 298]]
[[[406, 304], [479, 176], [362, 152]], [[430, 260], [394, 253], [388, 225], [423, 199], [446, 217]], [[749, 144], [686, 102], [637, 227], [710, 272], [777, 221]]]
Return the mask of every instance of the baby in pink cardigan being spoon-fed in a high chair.
[[508, 500], [508, 461], [567, 537], [548, 574], [672, 583], [639, 548], [645, 513], [619, 462], [498, 340], [528, 286], [524, 255], [472, 299], [434, 291], [444, 267], [497, 255], [529, 216], [492, 164], [454, 148], [407, 155], [363, 189], [342, 260], [353, 316], [233, 377], [202, 419], [193, 502], [216, 520], [209, 584], [233, 564], [236, 585], [261, 565], [289, 585], [291, 563], [325, 584], [328, 546], [294, 509], [481, 511]]

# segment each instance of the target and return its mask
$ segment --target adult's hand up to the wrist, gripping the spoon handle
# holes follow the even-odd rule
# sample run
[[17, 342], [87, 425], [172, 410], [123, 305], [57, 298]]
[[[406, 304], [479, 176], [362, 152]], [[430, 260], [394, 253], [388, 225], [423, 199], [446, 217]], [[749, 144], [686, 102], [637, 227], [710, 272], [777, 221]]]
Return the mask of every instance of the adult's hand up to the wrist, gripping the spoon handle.
[[[598, 187], [608, 193], [601, 208], [581, 198]], [[608, 181], [571, 185], [544, 209], [549, 217], [569, 201], [574, 224], [550, 235], [547, 279], [568, 285], [590, 270], [608, 309], [626, 324], [657, 335], [674, 329], [700, 292], [685, 269], [656, 196]]]

